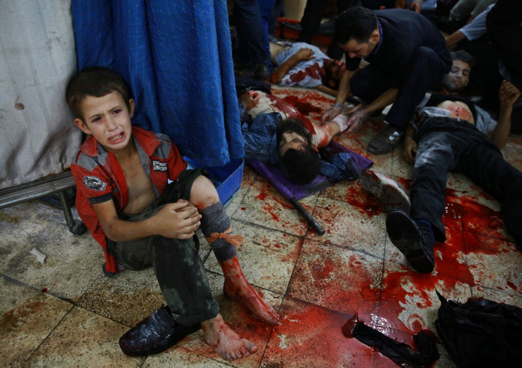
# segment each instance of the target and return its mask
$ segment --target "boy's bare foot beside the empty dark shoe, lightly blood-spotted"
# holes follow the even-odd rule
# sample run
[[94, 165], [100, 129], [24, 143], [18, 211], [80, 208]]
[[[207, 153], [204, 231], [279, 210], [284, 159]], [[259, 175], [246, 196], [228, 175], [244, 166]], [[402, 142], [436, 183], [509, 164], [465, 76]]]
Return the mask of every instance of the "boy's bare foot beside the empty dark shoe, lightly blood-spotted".
[[252, 341], [233, 332], [220, 314], [201, 322], [201, 329], [203, 329], [206, 344], [216, 350], [225, 360], [241, 359], [257, 351], [257, 346]]

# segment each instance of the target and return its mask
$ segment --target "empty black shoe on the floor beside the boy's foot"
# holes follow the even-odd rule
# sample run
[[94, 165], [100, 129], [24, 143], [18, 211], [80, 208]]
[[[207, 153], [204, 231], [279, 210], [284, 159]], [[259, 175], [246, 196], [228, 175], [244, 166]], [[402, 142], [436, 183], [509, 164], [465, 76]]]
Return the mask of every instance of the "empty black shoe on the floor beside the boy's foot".
[[120, 348], [133, 357], [157, 354], [200, 327], [199, 323], [193, 326], [177, 324], [169, 307], [163, 305], [120, 337]]

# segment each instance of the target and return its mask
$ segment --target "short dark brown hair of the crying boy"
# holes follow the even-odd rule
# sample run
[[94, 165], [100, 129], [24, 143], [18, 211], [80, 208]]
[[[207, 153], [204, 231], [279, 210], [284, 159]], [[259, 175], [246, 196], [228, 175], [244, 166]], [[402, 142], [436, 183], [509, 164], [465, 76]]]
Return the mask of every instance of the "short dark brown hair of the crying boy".
[[122, 96], [128, 109], [131, 90], [120, 73], [101, 66], [82, 69], [67, 84], [65, 99], [76, 118], [84, 120], [81, 102], [87, 96], [102, 97], [112, 92]]

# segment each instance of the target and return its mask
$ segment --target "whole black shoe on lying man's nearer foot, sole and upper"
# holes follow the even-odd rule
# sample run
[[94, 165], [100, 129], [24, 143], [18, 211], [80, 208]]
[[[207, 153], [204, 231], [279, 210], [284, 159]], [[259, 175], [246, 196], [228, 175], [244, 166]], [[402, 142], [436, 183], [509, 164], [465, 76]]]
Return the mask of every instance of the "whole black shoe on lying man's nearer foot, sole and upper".
[[386, 232], [394, 246], [405, 255], [411, 266], [423, 274], [433, 271], [433, 239], [429, 230], [419, 227], [401, 208], [394, 208], [386, 217]]

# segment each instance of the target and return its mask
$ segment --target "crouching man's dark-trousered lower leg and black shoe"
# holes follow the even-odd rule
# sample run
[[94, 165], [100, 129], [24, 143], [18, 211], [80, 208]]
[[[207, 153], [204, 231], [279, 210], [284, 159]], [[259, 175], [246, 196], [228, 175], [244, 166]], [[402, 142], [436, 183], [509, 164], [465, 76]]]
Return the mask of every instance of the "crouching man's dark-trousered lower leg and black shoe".
[[441, 87], [446, 69], [446, 64], [431, 48], [417, 48], [408, 62], [404, 79], [399, 81], [395, 102], [384, 118], [388, 126], [370, 142], [368, 151], [380, 155], [393, 150], [425, 93]]

